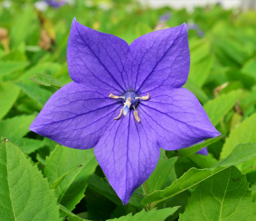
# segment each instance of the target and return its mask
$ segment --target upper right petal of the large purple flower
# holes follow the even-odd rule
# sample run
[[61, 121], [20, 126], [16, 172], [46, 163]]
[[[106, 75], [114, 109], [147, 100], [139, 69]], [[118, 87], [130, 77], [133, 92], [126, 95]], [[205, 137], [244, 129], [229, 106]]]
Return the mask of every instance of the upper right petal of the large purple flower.
[[129, 81], [134, 82], [132, 87], [139, 94], [181, 87], [190, 65], [186, 24], [139, 37], [131, 43], [128, 58]]

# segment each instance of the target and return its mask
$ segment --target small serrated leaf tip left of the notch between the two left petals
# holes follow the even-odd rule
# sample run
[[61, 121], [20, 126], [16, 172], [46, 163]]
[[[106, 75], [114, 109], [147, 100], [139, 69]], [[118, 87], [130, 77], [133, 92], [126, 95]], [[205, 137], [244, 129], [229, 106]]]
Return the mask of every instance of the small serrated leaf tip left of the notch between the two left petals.
[[59, 80], [52, 77], [52, 75], [36, 73], [33, 77], [30, 78], [30, 80], [44, 86], [53, 86], [56, 88], [61, 88], [62, 86], [64, 86], [63, 83], [61, 83]]

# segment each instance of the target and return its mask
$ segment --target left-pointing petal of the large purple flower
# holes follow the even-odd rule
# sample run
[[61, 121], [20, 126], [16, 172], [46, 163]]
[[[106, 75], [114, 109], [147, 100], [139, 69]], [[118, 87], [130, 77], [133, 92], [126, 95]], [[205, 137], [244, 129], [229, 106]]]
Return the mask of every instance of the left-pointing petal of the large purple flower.
[[108, 98], [108, 91], [95, 91], [71, 82], [56, 91], [30, 125], [30, 130], [61, 145], [88, 149], [95, 146], [122, 107]]

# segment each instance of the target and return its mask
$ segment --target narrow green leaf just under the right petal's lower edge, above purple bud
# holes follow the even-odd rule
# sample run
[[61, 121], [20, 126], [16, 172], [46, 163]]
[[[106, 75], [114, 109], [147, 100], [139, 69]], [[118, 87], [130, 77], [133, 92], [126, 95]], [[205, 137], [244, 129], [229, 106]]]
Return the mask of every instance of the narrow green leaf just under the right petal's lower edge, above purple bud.
[[218, 137], [215, 137], [215, 138], [207, 139], [204, 142], [195, 144], [195, 145], [187, 147], [187, 148], [177, 150], [177, 153], [175, 153], [172, 156], [186, 157], [186, 156], [195, 154], [197, 151], [203, 149], [205, 146], [209, 146], [211, 144], [214, 144], [215, 142], [217, 142], [218, 140], [220, 140], [222, 138], [224, 138], [224, 136], [218, 136]]

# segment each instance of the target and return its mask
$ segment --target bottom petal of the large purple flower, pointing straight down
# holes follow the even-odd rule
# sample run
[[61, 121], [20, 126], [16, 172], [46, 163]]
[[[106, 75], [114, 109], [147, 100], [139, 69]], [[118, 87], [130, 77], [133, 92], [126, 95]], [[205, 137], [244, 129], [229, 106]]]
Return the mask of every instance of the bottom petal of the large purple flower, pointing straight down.
[[100, 167], [126, 204], [133, 191], [153, 172], [160, 148], [147, 123], [138, 123], [132, 111], [114, 122], [94, 148]]

